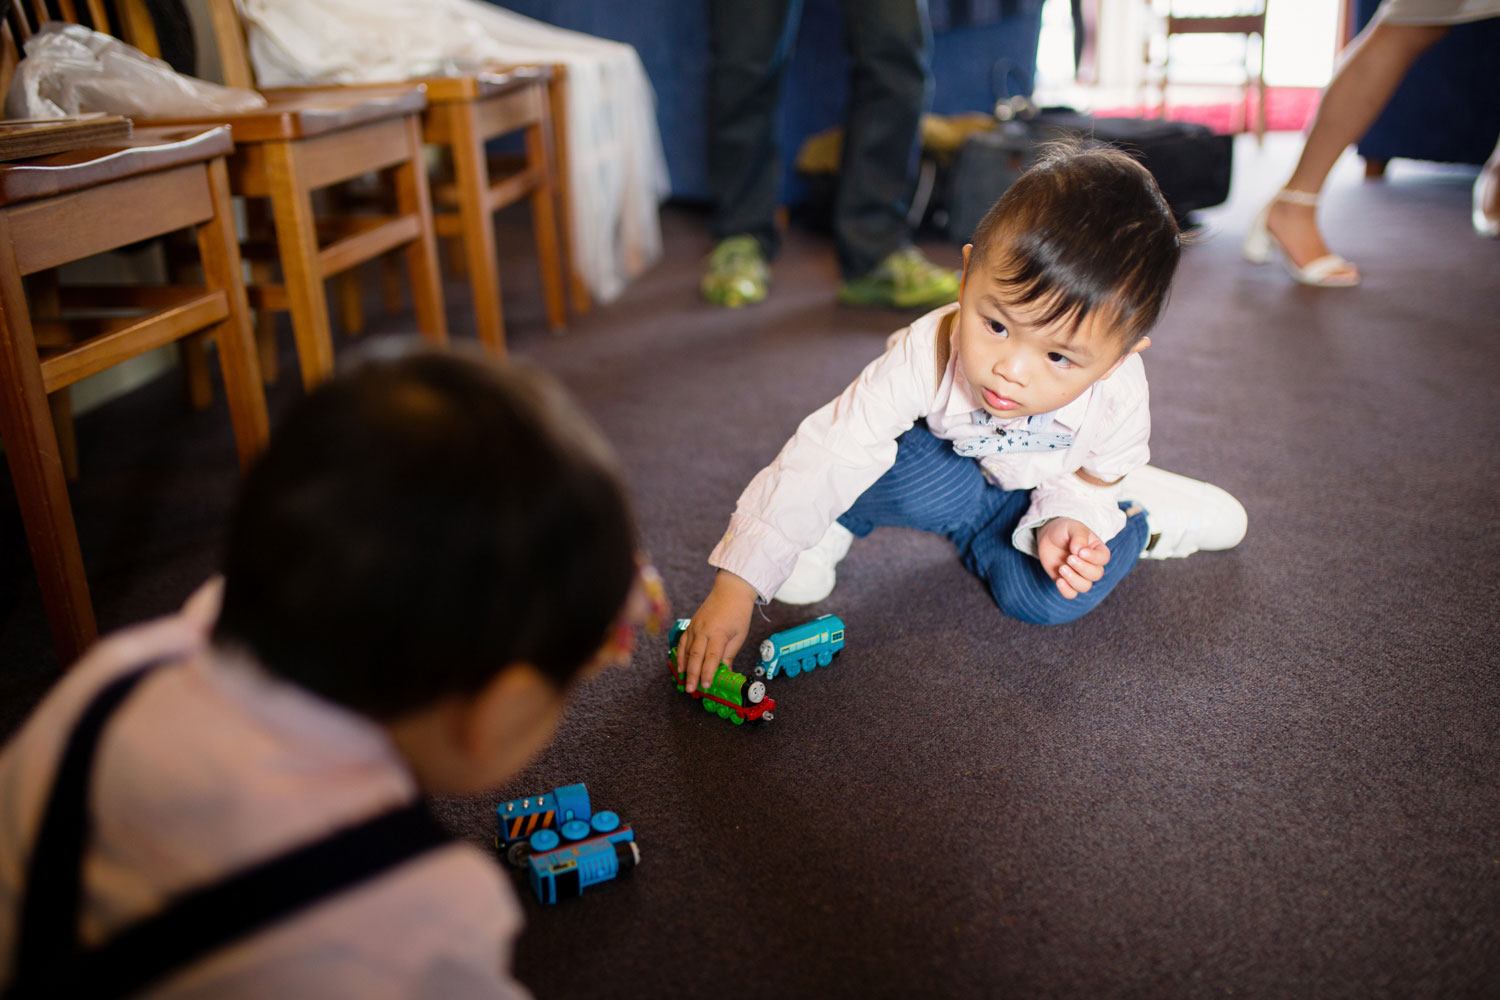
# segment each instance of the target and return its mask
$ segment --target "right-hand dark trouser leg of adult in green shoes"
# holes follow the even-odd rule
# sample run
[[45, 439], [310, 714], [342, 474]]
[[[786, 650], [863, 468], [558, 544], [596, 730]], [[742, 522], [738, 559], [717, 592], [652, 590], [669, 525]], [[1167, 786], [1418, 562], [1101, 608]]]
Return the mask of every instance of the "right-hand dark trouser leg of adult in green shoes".
[[854, 69], [844, 114], [834, 238], [844, 279], [868, 274], [910, 240], [921, 114], [932, 94], [926, 0], [844, 0]]

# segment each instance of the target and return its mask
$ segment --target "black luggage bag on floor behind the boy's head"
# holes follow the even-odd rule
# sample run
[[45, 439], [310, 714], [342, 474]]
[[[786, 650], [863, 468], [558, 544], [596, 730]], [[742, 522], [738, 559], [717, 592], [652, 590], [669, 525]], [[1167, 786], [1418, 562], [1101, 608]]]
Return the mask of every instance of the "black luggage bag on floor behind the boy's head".
[[1042, 108], [1034, 117], [998, 121], [969, 135], [946, 178], [945, 232], [968, 243], [980, 219], [1036, 157], [1036, 148], [1060, 135], [1088, 135], [1118, 145], [1156, 178], [1179, 223], [1190, 211], [1228, 198], [1234, 136], [1216, 135], [1191, 121], [1095, 118], [1071, 108]]

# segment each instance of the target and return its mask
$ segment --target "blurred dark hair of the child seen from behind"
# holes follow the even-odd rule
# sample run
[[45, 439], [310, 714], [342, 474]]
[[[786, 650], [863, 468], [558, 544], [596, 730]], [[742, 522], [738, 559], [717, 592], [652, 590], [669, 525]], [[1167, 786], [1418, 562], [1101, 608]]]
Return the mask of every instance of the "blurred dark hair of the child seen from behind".
[[300, 400], [240, 493], [214, 640], [376, 720], [510, 663], [558, 688], [636, 573], [610, 448], [540, 372], [432, 351]]

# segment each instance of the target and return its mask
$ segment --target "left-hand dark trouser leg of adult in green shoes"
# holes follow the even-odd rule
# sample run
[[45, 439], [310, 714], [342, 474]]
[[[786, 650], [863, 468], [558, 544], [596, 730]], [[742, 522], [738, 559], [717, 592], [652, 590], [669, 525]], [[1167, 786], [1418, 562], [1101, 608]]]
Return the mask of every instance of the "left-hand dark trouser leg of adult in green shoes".
[[708, 0], [708, 180], [714, 237], [748, 234], [778, 246], [777, 108], [802, 0]]

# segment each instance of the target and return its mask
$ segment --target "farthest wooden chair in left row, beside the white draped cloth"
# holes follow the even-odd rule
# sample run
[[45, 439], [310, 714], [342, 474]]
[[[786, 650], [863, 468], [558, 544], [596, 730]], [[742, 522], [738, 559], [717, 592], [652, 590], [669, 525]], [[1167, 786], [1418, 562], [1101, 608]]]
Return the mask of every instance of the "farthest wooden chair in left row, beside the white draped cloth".
[[[237, 0], [207, 1], [225, 82], [232, 87], [255, 87]], [[552, 330], [566, 325], [568, 294], [574, 312], [586, 312], [588, 294], [572, 268], [567, 228], [564, 226], [564, 238], [560, 240], [556, 220], [560, 201], [564, 220], [568, 211], [560, 181], [562, 174], [555, 162], [556, 153], [564, 151], [566, 145], [558, 145], [561, 129], [554, 130], [556, 115], [564, 112], [566, 69], [518, 66], [405, 82], [418, 82], [426, 88], [423, 139], [444, 151], [450, 169], [448, 177], [435, 178], [435, 193], [440, 208], [452, 205], [453, 210], [436, 211], [435, 228], [440, 237], [456, 237], [462, 246], [462, 271], [470, 280], [480, 342], [496, 354], [506, 349], [494, 214], [520, 199], [528, 199], [531, 205], [548, 325]], [[352, 90], [364, 87], [369, 85], [350, 85]], [[300, 90], [266, 93], [291, 94]], [[525, 136], [525, 153], [519, 160], [486, 157], [486, 142], [516, 132]], [[572, 283], [566, 288], [567, 280]], [[342, 298], [346, 304], [345, 322], [351, 328], [358, 327], [357, 289], [345, 291]]]

